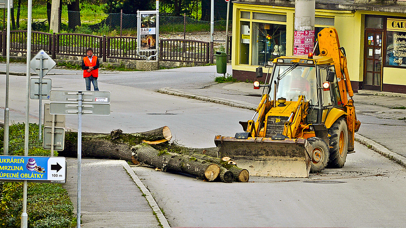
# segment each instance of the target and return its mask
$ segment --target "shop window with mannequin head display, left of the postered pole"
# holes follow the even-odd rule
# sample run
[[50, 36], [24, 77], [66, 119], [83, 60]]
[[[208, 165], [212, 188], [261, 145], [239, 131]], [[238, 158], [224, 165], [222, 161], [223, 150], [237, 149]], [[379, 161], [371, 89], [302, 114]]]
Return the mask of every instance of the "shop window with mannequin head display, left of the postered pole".
[[286, 55], [285, 25], [253, 22], [252, 27], [252, 65], [265, 65]]

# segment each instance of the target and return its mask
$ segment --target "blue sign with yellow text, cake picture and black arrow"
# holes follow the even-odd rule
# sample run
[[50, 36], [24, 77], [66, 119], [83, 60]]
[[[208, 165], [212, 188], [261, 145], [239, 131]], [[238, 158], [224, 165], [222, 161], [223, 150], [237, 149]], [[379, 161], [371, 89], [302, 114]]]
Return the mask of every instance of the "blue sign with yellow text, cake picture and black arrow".
[[64, 157], [0, 156], [0, 181], [66, 183]]

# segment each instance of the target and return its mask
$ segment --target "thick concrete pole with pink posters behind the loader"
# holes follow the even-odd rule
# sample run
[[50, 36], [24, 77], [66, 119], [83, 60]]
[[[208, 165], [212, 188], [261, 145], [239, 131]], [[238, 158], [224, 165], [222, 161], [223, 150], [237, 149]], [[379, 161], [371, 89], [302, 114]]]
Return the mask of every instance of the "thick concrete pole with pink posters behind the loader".
[[295, 1], [294, 55], [307, 55], [313, 52], [315, 41], [315, 0]]

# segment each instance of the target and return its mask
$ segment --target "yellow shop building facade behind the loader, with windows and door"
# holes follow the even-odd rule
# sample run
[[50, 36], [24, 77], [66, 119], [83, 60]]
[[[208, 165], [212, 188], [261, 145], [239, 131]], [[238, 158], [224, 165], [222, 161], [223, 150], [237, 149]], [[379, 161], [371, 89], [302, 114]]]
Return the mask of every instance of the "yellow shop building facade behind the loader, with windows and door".
[[[315, 36], [326, 27], [337, 29], [353, 90], [406, 93], [406, 4], [322, 2], [316, 1]], [[295, 2], [240, 0], [233, 4], [233, 78], [253, 81], [258, 66], [293, 55]], [[264, 74], [268, 70], [272, 69], [265, 68]]]

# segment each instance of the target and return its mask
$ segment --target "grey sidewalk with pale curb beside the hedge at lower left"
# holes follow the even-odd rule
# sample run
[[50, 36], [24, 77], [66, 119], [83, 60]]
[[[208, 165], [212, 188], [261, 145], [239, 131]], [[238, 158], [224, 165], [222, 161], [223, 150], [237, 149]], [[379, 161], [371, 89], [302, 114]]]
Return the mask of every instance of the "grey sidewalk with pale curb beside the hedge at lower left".
[[[67, 180], [63, 187], [76, 213], [78, 162], [76, 158], [66, 161]], [[127, 162], [82, 159], [81, 173], [81, 227], [170, 227], [151, 193]]]

